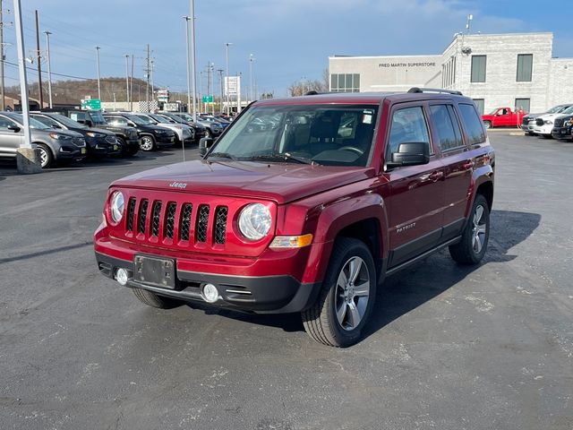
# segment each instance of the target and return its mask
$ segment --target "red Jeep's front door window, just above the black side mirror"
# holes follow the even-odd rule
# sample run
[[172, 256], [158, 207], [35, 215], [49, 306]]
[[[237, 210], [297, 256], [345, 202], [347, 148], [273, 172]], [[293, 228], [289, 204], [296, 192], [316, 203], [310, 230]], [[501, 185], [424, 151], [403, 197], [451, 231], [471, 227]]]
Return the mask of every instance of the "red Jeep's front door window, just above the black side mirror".
[[398, 152], [399, 144], [404, 142], [426, 142], [430, 147], [430, 134], [421, 106], [405, 107], [392, 114], [389, 153]]

